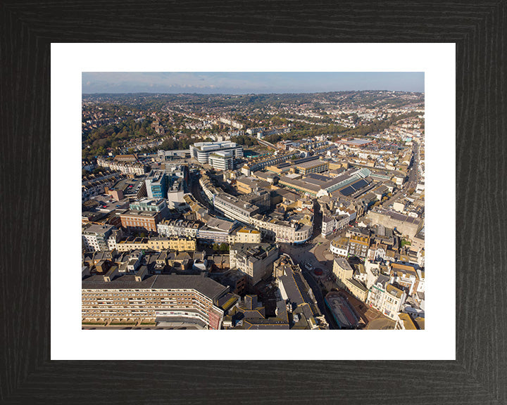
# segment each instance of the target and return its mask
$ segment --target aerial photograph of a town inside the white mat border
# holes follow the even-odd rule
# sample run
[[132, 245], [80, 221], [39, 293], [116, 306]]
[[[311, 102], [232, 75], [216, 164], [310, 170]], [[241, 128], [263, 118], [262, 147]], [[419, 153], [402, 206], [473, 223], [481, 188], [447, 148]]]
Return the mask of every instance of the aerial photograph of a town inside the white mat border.
[[82, 72], [81, 155], [82, 329], [425, 329], [424, 72]]

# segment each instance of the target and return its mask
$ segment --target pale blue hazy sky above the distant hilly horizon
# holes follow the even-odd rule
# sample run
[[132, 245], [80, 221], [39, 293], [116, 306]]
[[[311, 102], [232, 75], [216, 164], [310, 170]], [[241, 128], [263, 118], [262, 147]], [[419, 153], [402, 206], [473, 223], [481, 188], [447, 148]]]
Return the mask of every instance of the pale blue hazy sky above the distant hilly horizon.
[[424, 91], [424, 72], [82, 72], [82, 93]]

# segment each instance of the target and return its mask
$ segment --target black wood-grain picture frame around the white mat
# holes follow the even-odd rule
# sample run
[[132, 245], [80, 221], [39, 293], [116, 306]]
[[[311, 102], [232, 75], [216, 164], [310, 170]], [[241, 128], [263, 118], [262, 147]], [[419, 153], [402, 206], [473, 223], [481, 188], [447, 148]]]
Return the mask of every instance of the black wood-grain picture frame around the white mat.
[[[2, 1], [0, 402], [506, 404], [506, 15], [506, 0]], [[51, 361], [51, 42], [120, 41], [455, 42], [456, 361]]]

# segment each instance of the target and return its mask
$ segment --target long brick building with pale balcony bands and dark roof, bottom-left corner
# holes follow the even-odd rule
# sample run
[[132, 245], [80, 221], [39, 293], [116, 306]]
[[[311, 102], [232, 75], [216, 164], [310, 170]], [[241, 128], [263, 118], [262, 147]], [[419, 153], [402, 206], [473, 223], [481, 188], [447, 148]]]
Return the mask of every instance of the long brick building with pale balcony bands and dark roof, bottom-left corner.
[[[142, 269], [142, 267], [141, 267]], [[220, 329], [217, 301], [228, 288], [211, 278], [160, 274], [90, 276], [82, 280], [84, 321], [183, 321]]]

